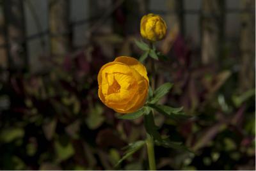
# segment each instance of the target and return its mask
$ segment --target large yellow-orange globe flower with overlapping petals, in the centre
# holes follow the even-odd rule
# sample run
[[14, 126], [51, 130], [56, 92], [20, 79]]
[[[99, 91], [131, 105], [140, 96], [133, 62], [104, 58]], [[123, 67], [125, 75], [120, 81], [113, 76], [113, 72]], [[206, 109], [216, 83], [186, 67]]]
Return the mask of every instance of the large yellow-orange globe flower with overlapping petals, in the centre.
[[147, 70], [133, 57], [120, 56], [104, 64], [98, 74], [98, 84], [100, 100], [122, 114], [135, 112], [147, 99]]

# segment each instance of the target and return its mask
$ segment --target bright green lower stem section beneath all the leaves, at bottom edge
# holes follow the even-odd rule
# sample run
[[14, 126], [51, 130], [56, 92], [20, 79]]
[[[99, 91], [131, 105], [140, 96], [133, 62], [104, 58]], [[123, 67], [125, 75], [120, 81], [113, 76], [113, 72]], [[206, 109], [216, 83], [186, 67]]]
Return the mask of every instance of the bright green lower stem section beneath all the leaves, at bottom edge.
[[148, 163], [149, 170], [156, 170], [156, 160], [154, 151], [154, 138], [147, 133], [147, 151], [148, 151]]

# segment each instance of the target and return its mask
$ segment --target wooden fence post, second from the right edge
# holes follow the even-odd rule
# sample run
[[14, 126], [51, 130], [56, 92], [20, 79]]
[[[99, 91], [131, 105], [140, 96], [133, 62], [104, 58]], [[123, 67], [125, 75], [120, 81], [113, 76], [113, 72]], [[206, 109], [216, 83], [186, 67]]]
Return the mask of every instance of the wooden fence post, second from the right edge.
[[223, 0], [202, 1], [202, 63], [214, 64], [220, 56], [225, 8]]

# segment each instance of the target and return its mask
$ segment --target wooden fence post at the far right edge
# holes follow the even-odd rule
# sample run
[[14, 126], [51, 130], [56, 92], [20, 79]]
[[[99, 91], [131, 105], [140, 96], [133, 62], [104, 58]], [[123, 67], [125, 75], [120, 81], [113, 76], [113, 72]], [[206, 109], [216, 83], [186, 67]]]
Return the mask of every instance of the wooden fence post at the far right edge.
[[241, 0], [239, 91], [243, 93], [255, 85], [255, 0]]

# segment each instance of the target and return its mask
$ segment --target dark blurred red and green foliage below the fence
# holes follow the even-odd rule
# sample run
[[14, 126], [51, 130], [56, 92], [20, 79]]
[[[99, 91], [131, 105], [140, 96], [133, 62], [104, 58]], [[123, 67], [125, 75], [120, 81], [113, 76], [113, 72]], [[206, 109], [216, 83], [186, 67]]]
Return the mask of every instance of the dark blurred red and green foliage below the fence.
[[[122, 44], [132, 47], [120, 41], [115, 40], [116, 50]], [[70, 54], [64, 66], [51, 63], [43, 73], [0, 70], [1, 170], [113, 170], [120, 159], [127, 160], [117, 166], [120, 170], [147, 170], [144, 142], [122, 158], [122, 147], [145, 137], [143, 123], [154, 136], [159, 170], [255, 170], [255, 89], [238, 91], [243, 82], [237, 82], [233, 67], [241, 58], [223, 56], [212, 70], [182, 47], [181, 39], [172, 56], [140, 46], [145, 66], [150, 49], [159, 59], [156, 85], [170, 81], [173, 87], [172, 96], [167, 96], [170, 88], [163, 93], [150, 88], [147, 110], [127, 115], [133, 121], [117, 119], [99, 100], [97, 73], [112, 56], [98, 46]], [[132, 49], [127, 54], [136, 54]], [[50, 63], [55, 57], [46, 59]], [[173, 108], [179, 106], [184, 108]]]

